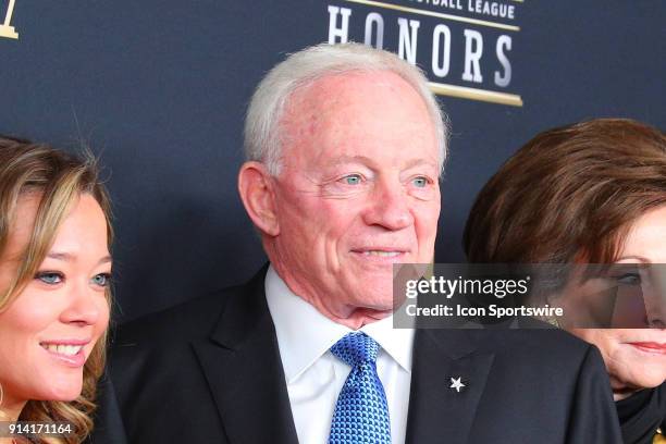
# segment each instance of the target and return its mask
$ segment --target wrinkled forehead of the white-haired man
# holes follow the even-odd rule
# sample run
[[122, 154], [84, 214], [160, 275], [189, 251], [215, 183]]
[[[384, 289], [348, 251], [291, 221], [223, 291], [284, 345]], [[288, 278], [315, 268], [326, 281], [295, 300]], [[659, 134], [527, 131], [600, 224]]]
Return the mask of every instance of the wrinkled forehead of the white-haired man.
[[[280, 133], [287, 161], [293, 156], [317, 155], [317, 148], [324, 146], [329, 153], [344, 151], [345, 146], [365, 147], [369, 155], [375, 146], [404, 151], [407, 141], [423, 148], [415, 151], [417, 156], [435, 162], [439, 156], [427, 104], [392, 72], [328, 75], [297, 88], [286, 103]], [[296, 151], [300, 148], [308, 153]]]

